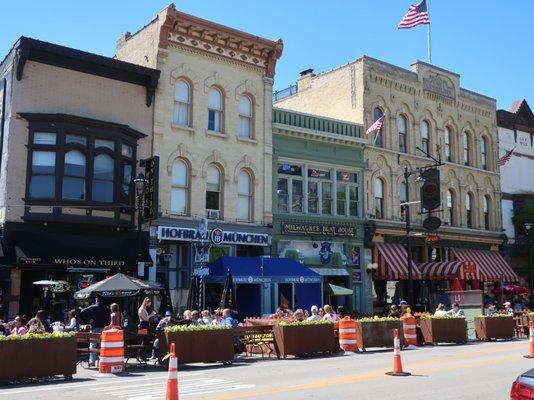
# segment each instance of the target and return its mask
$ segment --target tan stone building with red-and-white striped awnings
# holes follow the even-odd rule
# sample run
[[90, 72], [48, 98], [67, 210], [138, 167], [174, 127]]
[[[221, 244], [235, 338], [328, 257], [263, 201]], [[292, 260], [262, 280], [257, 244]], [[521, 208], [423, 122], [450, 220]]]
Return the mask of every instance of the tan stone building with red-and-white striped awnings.
[[[420, 236], [424, 232], [420, 206], [411, 207], [412, 259], [434, 262], [416, 265], [416, 279], [436, 279], [440, 282], [433, 287], [442, 289], [479, 287], [479, 279], [467, 279], [460, 261], [474, 261], [485, 281], [498, 280], [502, 273], [505, 280], [515, 279], [495, 251], [503, 237], [494, 99], [462, 88], [454, 72], [421, 61], [407, 70], [367, 56], [317, 75], [304, 71], [292, 91], [296, 93], [275, 106], [365, 127], [384, 115], [381, 133], [370, 134], [365, 149], [364, 207], [372, 239], [366, 263], [378, 264], [370, 267], [378, 268], [374, 277], [379, 298], [385, 298], [386, 280], [406, 279], [406, 250], [400, 246], [405, 242], [400, 206], [406, 198], [403, 170], [407, 166], [414, 172], [408, 181], [409, 200], [414, 201], [420, 199], [417, 169], [433, 164], [417, 147], [441, 156], [444, 165], [439, 168], [442, 210], [435, 215], [443, 223], [437, 245], [427, 245]], [[444, 264], [438, 268], [436, 262]]]

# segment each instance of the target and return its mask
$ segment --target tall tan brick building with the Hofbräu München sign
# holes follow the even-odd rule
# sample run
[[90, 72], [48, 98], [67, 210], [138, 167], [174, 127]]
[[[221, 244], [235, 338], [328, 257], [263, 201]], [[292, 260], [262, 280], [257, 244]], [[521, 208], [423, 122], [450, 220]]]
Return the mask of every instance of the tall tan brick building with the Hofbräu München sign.
[[[269, 253], [272, 86], [282, 41], [181, 13], [174, 5], [117, 43], [117, 58], [161, 70], [153, 154], [160, 217], [153, 221], [161, 279], [185, 305], [199, 220], [223, 231], [210, 250]], [[156, 232], [157, 231], [157, 232]]]

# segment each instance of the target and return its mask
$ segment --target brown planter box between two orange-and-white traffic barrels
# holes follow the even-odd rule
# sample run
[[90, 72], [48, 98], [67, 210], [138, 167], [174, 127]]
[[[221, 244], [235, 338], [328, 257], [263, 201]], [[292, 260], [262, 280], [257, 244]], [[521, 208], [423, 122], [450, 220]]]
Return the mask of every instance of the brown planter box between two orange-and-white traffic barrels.
[[368, 347], [393, 347], [393, 329], [399, 330], [401, 343], [404, 343], [402, 321], [356, 322], [356, 342], [358, 349]]

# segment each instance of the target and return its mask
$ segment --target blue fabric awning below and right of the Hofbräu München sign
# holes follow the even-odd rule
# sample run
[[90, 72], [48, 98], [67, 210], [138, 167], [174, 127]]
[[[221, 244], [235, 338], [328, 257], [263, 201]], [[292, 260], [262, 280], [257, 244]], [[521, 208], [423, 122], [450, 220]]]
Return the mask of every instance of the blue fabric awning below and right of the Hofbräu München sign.
[[234, 283], [321, 283], [323, 277], [291, 258], [220, 257], [209, 264], [206, 283], [224, 283], [230, 272]]

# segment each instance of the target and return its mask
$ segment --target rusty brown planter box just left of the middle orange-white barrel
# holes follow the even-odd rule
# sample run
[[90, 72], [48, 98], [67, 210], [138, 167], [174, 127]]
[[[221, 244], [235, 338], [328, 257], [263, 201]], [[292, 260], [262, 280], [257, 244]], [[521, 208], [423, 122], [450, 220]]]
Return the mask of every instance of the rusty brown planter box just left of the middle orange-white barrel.
[[275, 326], [273, 332], [280, 355], [284, 358], [336, 350], [332, 324]]

